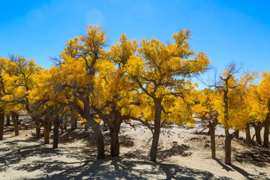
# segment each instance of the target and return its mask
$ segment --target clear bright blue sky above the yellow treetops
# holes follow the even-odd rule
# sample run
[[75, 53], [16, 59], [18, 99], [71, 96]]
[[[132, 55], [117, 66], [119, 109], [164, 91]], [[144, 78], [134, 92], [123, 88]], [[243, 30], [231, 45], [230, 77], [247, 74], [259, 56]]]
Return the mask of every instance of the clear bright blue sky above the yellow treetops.
[[190, 44], [221, 71], [234, 60], [270, 71], [270, 1], [261, 0], [4, 0], [0, 5], [0, 56], [20, 54], [50, 68], [49, 56], [85, 33], [107, 29], [110, 44], [122, 33], [165, 42], [191, 29]]

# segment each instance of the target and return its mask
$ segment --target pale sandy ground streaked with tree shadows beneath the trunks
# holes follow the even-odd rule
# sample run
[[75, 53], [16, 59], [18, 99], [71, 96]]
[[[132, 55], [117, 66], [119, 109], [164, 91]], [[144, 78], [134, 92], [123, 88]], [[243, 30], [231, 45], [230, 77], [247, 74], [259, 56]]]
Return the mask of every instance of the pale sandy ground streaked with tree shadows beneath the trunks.
[[18, 136], [12, 126], [5, 127], [0, 141], [0, 179], [270, 179], [270, 163], [265, 162], [270, 160], [269, 148], [255, 143], [245, 146], [242, 133], [232, 140], [232, 165], [225, 165], [220, 125], [216, 128], [217, 159], [211, 158], [209, 135], [194, 133], [200, 121], [194, 128], [162, 128], [157, 162], [151, 162], [151, 141], [147, 144], [151, 132], [133, 123], [136, 130], [121, 124], [119, 157], [109, 156], [109, 132], [102, 126], [105, 159], [96, 159], [91, 129], [80, 138], [85, 134], [80, 122], [75, 130], [60, 133], [57, 149], [52, 148], [52, 132], [50, 144], [31, 136], [33, 122], [20, 124]]

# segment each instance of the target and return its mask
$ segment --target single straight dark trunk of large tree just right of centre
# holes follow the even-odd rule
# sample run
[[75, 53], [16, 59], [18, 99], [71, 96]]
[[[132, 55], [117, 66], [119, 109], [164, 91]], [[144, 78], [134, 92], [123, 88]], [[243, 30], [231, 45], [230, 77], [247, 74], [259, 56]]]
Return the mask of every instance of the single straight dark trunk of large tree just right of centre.
[[160, 134], [160, 121], [161, 121], [161, 100], [154, 99], [155, 113], [154, 113], [154, 133], [150, 151], [150, 160], [156, 161], [157, 146]]

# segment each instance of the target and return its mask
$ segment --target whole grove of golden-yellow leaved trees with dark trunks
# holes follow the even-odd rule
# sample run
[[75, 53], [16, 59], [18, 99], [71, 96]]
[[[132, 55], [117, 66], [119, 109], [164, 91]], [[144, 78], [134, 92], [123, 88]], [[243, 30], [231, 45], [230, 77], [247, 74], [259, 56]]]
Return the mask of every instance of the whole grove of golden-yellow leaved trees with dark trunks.
[[50, 69], [19, 55], [0, 57], [0, 140], [4, 117], [10, 125], [11, 116], [18, 135], [18, 112], [24, 110], [35, 122], [37, 137], [43, 126], [44, 143], [49, 143], [53, 124], [53, 148], [58, 147], [58, 129], [66, 128], [67, 117], [71, 128], [80, 118], [94, 133], [97, 158], [105, 157], [99, 122], [108, 126], [110, 155], [118, 156], [120, 125], [132, 126], [131, 119], [152, 132], [151, 161], [156, 161], [160, 128], [171, 123], [194, 126], [194, 116], [209, 128], [212, 158], [217, 123], [224, 127], [226, 164], [231, 163], [231, 140], [239, 130], [246, 133], [246, 144], [253, 140], [249, 124], [257, 143], [268, 148], [270, 73], [243, 71], [241, 64], [231, 62], [207, 89], [197, 90], [193, 79], [209, 69], [210, 59], [191, 48], [190, 37], [188, 29], [173, 33], [173, 41], [167, 43], [154, 37], [128, 40], [122, 34], [119, 42], [109, 45], [106, 30], [89, 24], [85, 35], [65, 43]]

